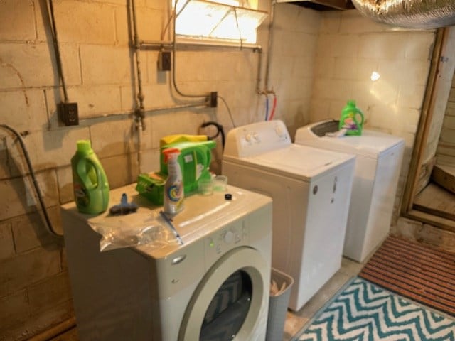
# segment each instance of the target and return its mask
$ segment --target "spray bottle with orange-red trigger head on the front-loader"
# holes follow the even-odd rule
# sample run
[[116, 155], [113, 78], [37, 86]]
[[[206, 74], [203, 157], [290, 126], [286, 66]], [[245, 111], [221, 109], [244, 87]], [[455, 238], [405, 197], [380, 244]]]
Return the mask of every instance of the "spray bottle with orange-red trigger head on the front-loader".
[[168, 164], [168, 178], [164, 184], [164, 212], [175, 215], [183, 210], [183, 178], [177, 158], [180, 150], [166, 148], [163, 151], [164, 162]]

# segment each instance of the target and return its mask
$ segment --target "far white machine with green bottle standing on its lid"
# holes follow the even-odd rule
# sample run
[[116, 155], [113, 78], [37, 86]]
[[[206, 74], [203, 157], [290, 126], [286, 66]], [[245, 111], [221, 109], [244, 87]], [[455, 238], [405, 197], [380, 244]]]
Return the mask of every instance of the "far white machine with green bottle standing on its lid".
[[357, 156], [343, 254], [362, 262], [387, 237], [405, 141], [363, 129], [361, 136], [326, 136], [338, 121], [320, 121], [296, 131], [295, 143]]

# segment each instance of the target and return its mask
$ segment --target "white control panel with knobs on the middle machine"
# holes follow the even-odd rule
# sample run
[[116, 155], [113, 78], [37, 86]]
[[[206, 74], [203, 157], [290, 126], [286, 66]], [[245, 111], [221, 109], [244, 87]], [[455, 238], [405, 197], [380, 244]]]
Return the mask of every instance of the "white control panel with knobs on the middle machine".
[[291, 137], [283, 121], [257, 122], [229, 131], [225, 155], [240, 158], [256, 156], [289, 144]]

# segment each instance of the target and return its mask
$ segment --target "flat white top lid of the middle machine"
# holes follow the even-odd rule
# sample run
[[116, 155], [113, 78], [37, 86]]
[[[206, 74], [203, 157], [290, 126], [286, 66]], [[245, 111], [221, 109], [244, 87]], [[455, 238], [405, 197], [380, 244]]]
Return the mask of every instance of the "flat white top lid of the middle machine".
[[289, 147], [241, 158], [238, 161], [253, 164], [264, 171], [311, 181], [343, 163], [354, 162], [354, 159], [355, 156], [351, 154], [291, 144]]

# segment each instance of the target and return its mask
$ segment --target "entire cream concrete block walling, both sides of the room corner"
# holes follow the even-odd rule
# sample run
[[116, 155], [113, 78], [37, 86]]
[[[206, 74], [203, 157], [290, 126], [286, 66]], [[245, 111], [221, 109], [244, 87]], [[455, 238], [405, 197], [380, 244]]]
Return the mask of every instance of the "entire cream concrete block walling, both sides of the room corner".
[[[170, 38], [162, 33], [170, 2], [136, 1], [141, 39]], [[176, 107], [188, 99], [171, 90], [167, 72], [156, 70], [157, 53], [141, 51], [146, 130], [139, 145], [131, 114], [137, 102], [137, 65], [129, 47], [131, 1], [53, 0], [68, 96], [80, 113], [79, 126], [63, 126], [46, 3], [0, 1], [0, 123], [24, 133], [58, 231], [59, 206], [73, 200], [70, 158], [78, 139], [92, 141], [111, 188], [117, 188], [134, 182], [140, 172], [159, 169], [161, 136], [204, 134], [199, 127], [208, 120], [228, 133], [234, 125], [264, 119], [265, 98], [256, 94], [257, 53], [240, 48], [177, 53], [180, 90], [217, 91], [231, 119], [221, 101], [215, 109]], [[269, 0], [259, 1], [260, 9], [269, 7]], [[267, 55], [272, 60], [275, 118], [287, 124], [291, 136], [310, 121], [338, 118], [346, 99], [354, 97], [365, 111], [366, 126], [403, 136], [412, 147], [434, 32], [392, 31], [355, 11], [316, 12], [292, 4], [277, 4], [275, 19], [272, 50], [267, 50], [268, 22], [259, 27], [258, 43], [263, 63]], [[372, 70], [382, 75], [373, 86]], [[218, 146], [217, 161], [221, 155]], [[403, 177], [408, 163], [405, 159]], [[18, 142], [0, 129], [0, 340], [25, 340], [73, 316], [65, 249], [45, 232], [27, 173]]]

